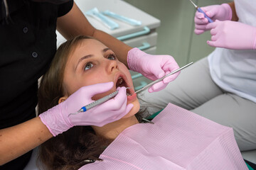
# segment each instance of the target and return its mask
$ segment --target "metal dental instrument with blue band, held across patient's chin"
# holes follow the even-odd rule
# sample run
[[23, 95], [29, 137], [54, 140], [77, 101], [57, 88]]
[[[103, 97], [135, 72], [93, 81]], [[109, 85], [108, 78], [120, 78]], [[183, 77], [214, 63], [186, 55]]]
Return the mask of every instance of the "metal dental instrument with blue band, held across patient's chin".
[[[126, 89], [130, 89], [130, 87], [127, 87]], [[109, 94], [109, 95], [107, 95], [107, 96], [104, 96], [104, 97], [100, 98], [100, 99], [97, 100], [97, 101], [93, 101], [92, 103], [87, 104], [86, 106], [83, 106], [82, 108], [80, 108], [80, 110], [77, 111], [76, 113], [70, 113], [68, 116], [70, 116], [70, 115], [76, 115], [76, 114], [78, 114], [78, 113], [88, 111], [90, 108], [94, 108], [95, 106], [98, 106], [98, 105], [100, 105], [101, 103], [104, 103], [105, 101], [110, 100], [110, 99], [113, 98], [114, 96], [117, 96], [117, 94], [118, 94], [118, 91], [114, 91], [112, 94]]]

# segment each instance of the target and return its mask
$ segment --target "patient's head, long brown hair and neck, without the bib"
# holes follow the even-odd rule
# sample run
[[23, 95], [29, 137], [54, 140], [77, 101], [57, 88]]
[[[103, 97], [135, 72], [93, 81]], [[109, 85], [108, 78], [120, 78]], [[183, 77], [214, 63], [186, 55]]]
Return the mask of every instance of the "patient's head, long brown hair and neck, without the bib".
[[98, 159], [122, 130], [139, 123], [135, 117], [139, 111], [139, 101], [134, 94], [132, 78], [127, 67], [117, 60], [112, 50], [86, 36], [60, 45], [50, 69], [41, 79], [38, 90], [39, 113], [65, 101], [82, 86], [111, 81], [114, 86], [110, 91], [97, 94], [92, 99], [97, 100], [121, 87], [129, 87], [127, 104], [133, 104], [132, 110], [114, 123], [103, 127], [77, 126], [45, 142], [41, 146], [40, 157], [48, 169], [78, 169], [87, 163], [85, 160]]

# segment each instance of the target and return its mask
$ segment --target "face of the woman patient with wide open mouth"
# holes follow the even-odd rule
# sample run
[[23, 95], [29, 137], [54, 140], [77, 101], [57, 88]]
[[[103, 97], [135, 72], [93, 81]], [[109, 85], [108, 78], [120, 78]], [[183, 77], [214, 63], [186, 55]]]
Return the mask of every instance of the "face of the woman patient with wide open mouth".
[[[65, 67], [64, 88], [66, 96], [73, 94], [82, 86], [114, 82], [110, 91], [93, 96], [93, 100], [107, 96], [117, 90], [118, 86], [127, 86], [128, 94], [134, 93], [131, 74], [127, 67], [117, 60], [114, 52], [101, 42], [94, 39], [82, 40], [69, 56]], [[139, 111], [139, 101], [136, 95], [127, 96], [127, 104], [133, 103], [132, 110], [124, 116], [128, 118]]]

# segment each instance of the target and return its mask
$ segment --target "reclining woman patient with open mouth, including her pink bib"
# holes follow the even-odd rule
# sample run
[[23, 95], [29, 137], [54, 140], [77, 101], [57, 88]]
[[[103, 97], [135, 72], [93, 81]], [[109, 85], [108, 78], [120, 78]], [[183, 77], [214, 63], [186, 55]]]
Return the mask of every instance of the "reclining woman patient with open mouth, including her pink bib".
[[[104, 86], [104, 83], [109, 82], [114, 83], [112, 89], [105, 93], [97, 94], [93, 96], [92, 99], [97, 100], [114, 91], [124, 90], [129, 87], [130, 89], [127, 89], [127, 105], [130, 103], [133, 104], [131, 111], [120, 120], [109, 123], [103, 127], [75, 126], [46, 141], [41, 145], [39, 152], [39, 160], [43, 163], [44, 169], [93, 169], [94, 166], [95, 169], [105, 166], [110, 169], [119, 169], [120, 167], [121, 169], [154, 169], [154, 166], [158, 167], [159, 164], [161, 164], [161, 168], [163, 169], [175, 169], [176, 166], [174, 166], [174, 164], [179, 164], [179, 166], [188, 166], [188, 164], [191, 163], [196, 164], [192, 161], [193, 159], [190, 159], [190, 161], [186, 160], [186, 157], [193, 158], [197, 153], [199, 155], [204, 147], [210, 144], [210, 137], [213, 137], [213, 140], [215, 140], [215, 137], [220, 136], [223, 132], [229, 134], [232, 131], [230, 131], [230, 128], [212, 123], [210, 120], [204, 120], [206, 124], [203, 125], [206, 127], [202, 128], [203, 125], [199, 125], [198, 123], [202, 122], [200, 116], [175, 106], [171, 106], [174, 110], [165, 109], [161, 113], [163, 115], [165, 113], [167, 113], [166, 115], [171, 115], [169, 114], [170, 112], [174, 114], [177, 113], [175, 116], [172, 115], [174, 118], [162, 119], [161, 115], [158, 115], [157, 118], [154, 119], [154, 125], [148, 124], [145, 129], [142, 124], [139, 124], [139, 116], [137, 116], [139, 101], [137, 95], [134, 94], [132, 78], [127, 67], [125, 67], [122, 62], [119, 62], [114, 52], [101, 42], [82, 35], [73, 40], [68, 40], [58, 48], [48, 72], [41, 79], [41, 85], [38, 91], [38, 112], [43, 113], [49, 108], [58, 105], [58, 103], [65, 101], [82, 86], [90, 86], [93, 84], [102, 84], [102, 86]], [[78, 110], [79, 109], [80, 108], [78, 108]], [[86, 114], [86, 112], [78, 114]], [[176, 120], [176, 123], [179, 120], [183, 121], [182, 124], [186, 125], [186, 127], [175, 130], [177, 126], [169, 126], [168, 124], [172, 124], [171, 121], [174, 120], [175, 117], [179, 117], [179, 115], [188, 115], [188, 118], [185, 118], [186, 120], [183, 120], [184, 118], [177, 118]], [[196, 116], [196, 118], [191, 121], [192, 124], [190, 127], [190, 122], [186, 123], [186, 121], [190, 120], [193, 116]], [[163, 123], [163, 121], [167, 122]], [[193, 125], [195, 122], [197, 125]], [[215, 128], [210, 127], [209, 124]], [[201, 129], [198, 127], [201, 127]], [[181, 142], [178, 142], [179, 144], [177, 144], [177, 140], [172, 142], [172, 139], [178, 138], [175, 136], [182, 136], [181, 134], [183, 131], [186, 131], [186, 128], [191, 131], [201, 130], [202, 132], [200, 134], [188, 133], [187, 135], [183, 135], [184, 138], [181, 139]], [[149, 130], [149, 132], [147, 130]], [[160, 133], [156, 131], [160, 131]], [[165, 132], [164, 135], [161, 131]], [[203, 132], [205, 131], [207, 137], [206, 140], [202, 140], [202, 134], [204, 134]], [[129, 132], [132, 135], [129, 134]], [[176, 132], [178, 132], [178, 134], [176, 134]], [[136, 133], [138, 133], [137, 137], [134, 137], [135, 139], [132, 141], [136, 141], [137, 139], [139, 139], [138, 141], [142, 140], [145, 142], [144, 147], [138, 147], [140, 146], [137, 145], [139, 142], [135, 142], [136, 145], [134, 145], [134, 142], [131, 141], [133, 135], [136, 135]], [[209, 133], [213, 135], [211, 136]], [[190, 136], [189, 134], [192, 135]], [[128, 135], [130, 138], [125, 138], [125, 135]], [[191, 142], [190, 140], [193, 141]], [[181, 143], [184, 143], [183, 141], [188, 141], [188, 143], [181, 146]], [[244, 169], [245, 163], [242, 162], [242, 157], [240, 156], [233, 136], [231, 135], [231, 137], [222, 141], [224, 141], [222, 143], [228, 143], [228, 145], [221, 145], [221, 147], [217, 145], [217, 148], [228, 147], [227, 155], [231, 156], [230, 159], [226, 157], [223, 158], [222, 156], [226, 154], [222, 152], [223, 155], [218, 155], [218, 157], [221, 157], [218, 163], [225, 166], [226, 169], [230, 168], [230, 166], [225, 165], [226, 162], [231, 162], [230, 164], [233, 164], [233, 169]], [[153, 143], [154, 145], [149, 145], [149, 143]], [[191, 147], [191, 143], [193, 143], [193, 147]], [[189, 152], [191, 148], [193, 148], [193, 154]], [[150, 149], [151, 151], [149, 151]], [[178, 149], [178, 152], [175, 152], [175, 149]], [[186, 157], [181, 159], [186, 161], [180, 161], [176, 153], [180, 154], [187, 151]], [[159, 152], [159, 154], [156, 152]], [[167, 163], [165, 152], [168, 152], [168, 157], [170, 157]], [[217, 151], [213, 152], [218, 154]], [[102, 153], [105, 153], [105, 156]], [[112, 153], [124, 155], [125, 158], [118, 160], [120, 157], [114, 158], [114, 156], [111, 156]], [[215, 154], [213, 153], [213, 155]], [[152, 155], [154, 155], [154, 157]], [[160, 156], [156, 157], [156, 155], [165, 158], [159, 159]], [[191, 155], [191, 157], [188, 155]], [[202, 159], [203, 157], [205, 158], [204, 155], [201, 155], [201, 157]], [[151, 161], [152, 158], [153, 161]], [[199, 156], [197, 159], [200, 160]], [[149, 162], [144, 164], [144, 160]], [[99, 163], [101, 162], [105, 162], [106, 164], [100, 165]], [[240, 166], [237, 166], [237, 164], [240, 164]], [[147, 166], [150, 166], [150, 168]], [[211, 168], [208, 166], [208, 169]]]

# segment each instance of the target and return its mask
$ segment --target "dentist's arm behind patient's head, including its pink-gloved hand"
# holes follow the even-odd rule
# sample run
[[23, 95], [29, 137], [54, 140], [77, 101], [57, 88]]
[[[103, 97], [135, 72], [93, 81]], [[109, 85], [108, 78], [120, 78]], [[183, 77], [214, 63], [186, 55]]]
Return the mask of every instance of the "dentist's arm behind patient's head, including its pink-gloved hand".
[[[137, 48], [129, 47], [124, 42], [101, 30], [95, 29], [90, 25], [75, 3], [69, 13], [58, 18], [57, 29], [66, 39], [73, 38], [76, 35], [89, 35], [97, 38], [107, 47], [110, 47], [118, 59], [126, 64], [129, 69], [139, 72], [151, 80], [164, 77], [166, 74], [179, 68], [174, 57], [170, 55], [148, 55]], [[154, 86], [149, 88], [149, 92], [164, 89], [170, 81], [178, 77], [178, 74], [179, 72], [154, 84]]]

